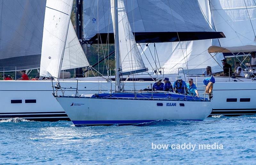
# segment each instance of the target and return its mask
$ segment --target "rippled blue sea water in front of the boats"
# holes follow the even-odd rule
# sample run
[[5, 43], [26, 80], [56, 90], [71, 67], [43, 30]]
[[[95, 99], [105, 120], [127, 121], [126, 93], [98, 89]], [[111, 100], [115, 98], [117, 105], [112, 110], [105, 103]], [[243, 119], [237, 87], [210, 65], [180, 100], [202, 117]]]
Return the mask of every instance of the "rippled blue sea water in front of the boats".
[[89, 127], [17, 120], [0, 123], [0, 163], [256, 164], [256, 115]]

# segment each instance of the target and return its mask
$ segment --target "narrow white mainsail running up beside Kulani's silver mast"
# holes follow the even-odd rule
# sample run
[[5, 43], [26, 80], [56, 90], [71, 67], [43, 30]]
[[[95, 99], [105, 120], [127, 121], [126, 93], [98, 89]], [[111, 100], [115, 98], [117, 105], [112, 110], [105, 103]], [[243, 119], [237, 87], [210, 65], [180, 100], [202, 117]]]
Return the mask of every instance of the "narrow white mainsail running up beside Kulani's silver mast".
[[[122, 72], [135, 71], [144, 69], [144, 63], [140, 56], [139, 49], [132, 34], [132, 29], [129, 24], [126, 9], [123, 0], [117, 1], [118, 5], [118, 36], [120, 49], [120, 62]], [[112, 20], [114, 20], [114, 11], [111, 10]], [[114, 25], [114, 24], [113, 24]]]

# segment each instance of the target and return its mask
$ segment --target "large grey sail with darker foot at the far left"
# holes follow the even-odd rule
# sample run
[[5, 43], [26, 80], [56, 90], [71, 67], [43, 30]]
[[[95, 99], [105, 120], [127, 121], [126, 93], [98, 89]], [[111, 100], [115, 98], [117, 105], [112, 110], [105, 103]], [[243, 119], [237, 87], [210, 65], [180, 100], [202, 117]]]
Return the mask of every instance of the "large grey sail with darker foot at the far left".
[[40, 67], [46, 1], [0, 1], [0, 71]]

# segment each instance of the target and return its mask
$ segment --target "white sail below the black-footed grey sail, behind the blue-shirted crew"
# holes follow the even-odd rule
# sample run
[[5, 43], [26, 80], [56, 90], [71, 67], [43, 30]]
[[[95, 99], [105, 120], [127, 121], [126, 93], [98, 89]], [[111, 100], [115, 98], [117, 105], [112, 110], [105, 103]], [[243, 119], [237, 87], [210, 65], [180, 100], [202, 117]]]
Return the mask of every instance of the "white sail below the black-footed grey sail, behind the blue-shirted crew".
[[[207, 51], [208, 46], [211, 45], [211, 39], [181, 42], [181, 45], [179, 42], [156, 43], [158, 58], [157, 56], [155, 58], [154, 44], [148, 44], [148, 47], [145, 45], [142, 46], [147, 58], [141, 49], [140, 53], [149, 72], [153, 72], [157, 67], [163, 68], [164, 74], [177, 74], [178, 68], [183, 68], [185, 74], [201, 75], [207, 66], [211, 66], [212, 72], [220, 72], [223, 70], [220, 67], [223, 55], [217, 54], [214, 56], [214, 59], [219, 63], [218, 64]], [[149, 49], [151, 50], [151, 53], [153, 53], [153, 57], [151, 56]], [[181, 72], [182, 70], [180, 69], [180, 73]]]

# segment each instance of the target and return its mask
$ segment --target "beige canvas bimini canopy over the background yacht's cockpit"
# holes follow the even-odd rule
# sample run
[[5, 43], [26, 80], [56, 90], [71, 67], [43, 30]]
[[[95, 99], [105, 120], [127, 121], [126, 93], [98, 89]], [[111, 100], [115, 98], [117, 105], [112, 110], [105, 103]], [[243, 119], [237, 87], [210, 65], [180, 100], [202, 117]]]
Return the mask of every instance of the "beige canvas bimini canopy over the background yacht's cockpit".
[[255, 45], [245, 45], [240, 47], [210, 46], [208, 48], [209, 53], [234, 53], [234, 52], [254, 52], [254, 51], [256, 51]]

